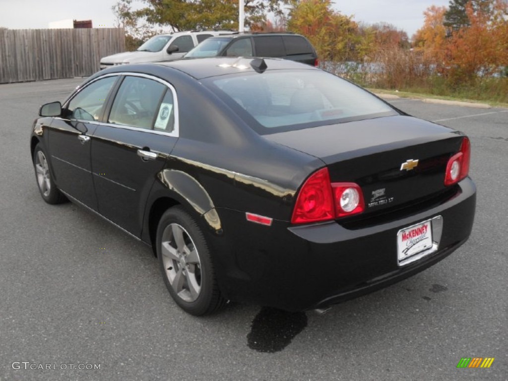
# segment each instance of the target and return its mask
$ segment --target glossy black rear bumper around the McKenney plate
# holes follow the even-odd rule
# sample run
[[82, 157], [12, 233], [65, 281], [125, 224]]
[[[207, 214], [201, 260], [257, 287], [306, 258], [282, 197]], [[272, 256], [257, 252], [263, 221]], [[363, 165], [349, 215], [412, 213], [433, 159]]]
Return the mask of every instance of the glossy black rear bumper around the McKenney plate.
[[[219, 209], [224, 236], [214, 237], [219, 285], [232, 300], [296, 311], [323, 308], [386, 287], [450, 255], [469, 237], [476, 204], [471, 179], [439, 205], [360, 229], [335, 221], [271, 227], [249, 223], [245, 213]], [[437, 251], [399, 267], [397, 232], [442, 216]], [[225, 244], [225, 242], [228, 242]]]

